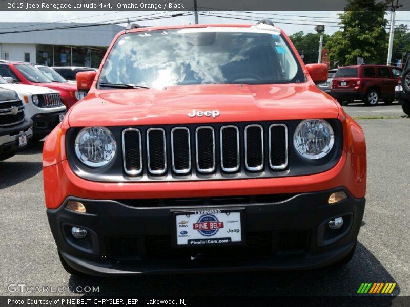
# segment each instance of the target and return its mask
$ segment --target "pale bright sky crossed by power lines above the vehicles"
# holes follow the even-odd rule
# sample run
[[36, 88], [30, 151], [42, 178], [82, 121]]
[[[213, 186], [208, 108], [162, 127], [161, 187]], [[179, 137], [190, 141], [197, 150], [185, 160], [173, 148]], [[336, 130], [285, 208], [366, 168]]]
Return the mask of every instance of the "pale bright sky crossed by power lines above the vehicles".
[[[187, 12], [185, 12], [187, 13]], [[270, 18], [275, 25], [282, 28], [286, 34], [291, 35], [293, 33], [303, 31], [304, 33], [315, 33], [315, 25], [326, 25], [325, 33], [333, 34], [339, 28], [338, 26], [338, 16], [340, 12], [202, 12], [207, 16], [200, 15], [199, 23], [208, 24], [208, 23], [244, 23], [244, 24], [254, 24], [256, 21], [253, 20], [238, 20], [238, 19], [229, 19], [227, 17], [239, 17], [239, 18], [248, 18], [260, 20], [263, 18]], [[157, 16], [169, 16], [170, 14], [175, 14], [175, 12], [0, 12], [0, 20], [3, 22], [7, 21], [27, 21], [35, 23], [48, 23], [48, 22], [77, 22], [77, 23], [102, 23], [108, 20], [126, 20], [127, 17], [130, 19], [138, 18], [142, 15], [151, 15], [150, 17]], [[223, 16], [224, 18], [218, 17]], [[147, 18], [147, 17], [146, 17]], [[390, 14], [386, 14], [386, 19], [390, 19]], [[398, 11], [396, 13], [396, 25], [402, 23], [400, 20], [407, 21], [407, 24], [410, 25], [410, 12]], [[168, 19], [159, 19], [159, 20], [149, 20], [141, 21], [141, 25], [149, 26], [160, 26], [160, 25], [184, 25], [194, 23], [194, 16], [178, 16]], [[299, 25], [300, 24], [300, 25]], [[303, 24], [303, 25], [302, 25]], [[310, 25], [306, 25], [310, 24]], [[122, 26], [126, 26], [126, 23], [120, 23]], [[44, 25], [38, 25], [38, 27], [44, 27]]]

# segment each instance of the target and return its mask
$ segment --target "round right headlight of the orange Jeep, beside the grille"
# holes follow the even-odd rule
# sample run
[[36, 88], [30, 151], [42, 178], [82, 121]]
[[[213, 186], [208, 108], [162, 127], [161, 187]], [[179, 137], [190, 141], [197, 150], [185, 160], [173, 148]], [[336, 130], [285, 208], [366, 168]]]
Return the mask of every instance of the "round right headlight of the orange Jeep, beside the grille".
[[329, 153], [335, 143], [332, 126], [323, 119], [303, 120], [296, 128], [293, 145], [306, 159], [320, 159]]

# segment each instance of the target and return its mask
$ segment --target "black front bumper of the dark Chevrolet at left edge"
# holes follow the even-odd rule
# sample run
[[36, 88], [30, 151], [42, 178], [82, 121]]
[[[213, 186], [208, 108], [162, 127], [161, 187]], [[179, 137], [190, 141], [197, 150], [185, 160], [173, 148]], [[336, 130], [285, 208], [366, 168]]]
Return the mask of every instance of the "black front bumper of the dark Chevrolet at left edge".
[[27, 142], [32, 138], [31, 119], [26, 119], [22, 123], [9, 127], [0, 127], [0, 161], [13, 157], [20, 149], [18, 146], [18, 135], [26, 133]]

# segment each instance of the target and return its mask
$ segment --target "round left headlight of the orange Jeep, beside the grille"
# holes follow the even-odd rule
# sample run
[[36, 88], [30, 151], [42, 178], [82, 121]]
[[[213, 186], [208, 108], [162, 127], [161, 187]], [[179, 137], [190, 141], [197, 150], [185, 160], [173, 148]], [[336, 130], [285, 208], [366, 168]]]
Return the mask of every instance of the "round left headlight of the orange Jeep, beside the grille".
[[105, 127], [87, 127], [75, 138], [77, 158], [87, 166], [105, 166], [115, 158], [117, 143]]

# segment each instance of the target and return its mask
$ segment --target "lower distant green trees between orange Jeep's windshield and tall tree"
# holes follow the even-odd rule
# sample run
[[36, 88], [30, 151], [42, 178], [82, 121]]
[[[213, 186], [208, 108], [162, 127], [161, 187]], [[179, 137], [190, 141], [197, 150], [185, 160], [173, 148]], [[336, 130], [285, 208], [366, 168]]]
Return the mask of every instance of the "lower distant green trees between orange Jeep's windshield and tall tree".
[[[329, 39], [329, 35], [323, 35], [323, 45]], [[303, 54], [303, 62], [305, 64], [317, 63], [318, 51], [319, 51], [319, 33], [308, 33], [304, 35], [303, 31], [297, 32], [289, 38], [295, 45], [296, 50], [300, 55]]]

